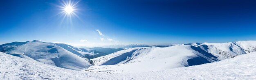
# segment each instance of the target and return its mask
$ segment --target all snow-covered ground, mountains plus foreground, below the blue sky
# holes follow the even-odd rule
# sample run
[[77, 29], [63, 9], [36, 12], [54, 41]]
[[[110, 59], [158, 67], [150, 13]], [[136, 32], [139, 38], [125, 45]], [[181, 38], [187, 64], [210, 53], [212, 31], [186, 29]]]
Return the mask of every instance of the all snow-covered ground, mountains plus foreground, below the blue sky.
[[84, 58], [92, 50], [66, 44], [13, 42], [0, 45], [0, 51], [7, 53], [0, 53], [0, 80], [255, 79], [256, 41], [128, 48], [92, 59], [94, 66]]

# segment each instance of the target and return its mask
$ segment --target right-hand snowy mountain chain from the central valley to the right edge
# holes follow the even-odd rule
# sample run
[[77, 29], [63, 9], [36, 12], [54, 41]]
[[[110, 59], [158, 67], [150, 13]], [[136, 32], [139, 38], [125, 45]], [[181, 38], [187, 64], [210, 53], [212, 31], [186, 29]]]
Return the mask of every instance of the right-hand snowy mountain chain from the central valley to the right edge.
[[92, 59], [93, 72], [143, 72], [222, 61], [256, 51], [256, 41], [189, 43], [170, 47], [129, 48]]

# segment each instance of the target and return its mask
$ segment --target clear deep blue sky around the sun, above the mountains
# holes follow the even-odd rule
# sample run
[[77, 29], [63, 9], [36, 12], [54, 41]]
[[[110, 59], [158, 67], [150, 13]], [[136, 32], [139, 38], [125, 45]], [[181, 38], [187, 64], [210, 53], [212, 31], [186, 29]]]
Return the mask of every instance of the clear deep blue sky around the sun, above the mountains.
[[74, 46], [256, 40], [255, 0], [72, 2], [78, 2], [77, 16], [70, 19], [58, 15], [62, 0], [1, 0], [0, 44], [34, 39]]

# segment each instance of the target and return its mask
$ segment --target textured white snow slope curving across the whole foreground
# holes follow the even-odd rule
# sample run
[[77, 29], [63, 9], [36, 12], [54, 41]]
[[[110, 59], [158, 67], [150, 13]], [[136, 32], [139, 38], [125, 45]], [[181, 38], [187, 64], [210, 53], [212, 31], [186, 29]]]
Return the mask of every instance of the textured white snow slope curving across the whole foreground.
[[160, 71], [128, 74], [88, 73], [45, 65], [0, 52], [0, 80], [255, 80], [256, 52], [223, 61]]

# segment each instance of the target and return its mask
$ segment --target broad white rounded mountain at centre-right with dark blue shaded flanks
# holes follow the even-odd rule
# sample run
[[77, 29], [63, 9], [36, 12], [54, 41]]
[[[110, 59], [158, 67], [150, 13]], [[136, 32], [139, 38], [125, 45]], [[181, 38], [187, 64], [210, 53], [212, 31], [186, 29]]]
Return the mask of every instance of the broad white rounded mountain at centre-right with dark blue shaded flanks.
[[172, 69], [176, 67], [186, 67], [219, 61], [216, 57], [211, 56], [211, 54], [206, 55], [208, 56], [193, 50], [191, 45], [177, 45], [166, 48], [130, 48], [92, 59], [95, 66], [89, 67], [86, 71], [119, 70], [122, 71], [121, 73], [135, 73]]

